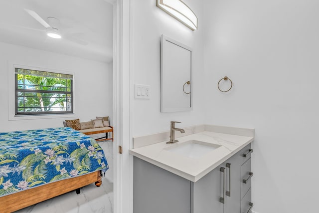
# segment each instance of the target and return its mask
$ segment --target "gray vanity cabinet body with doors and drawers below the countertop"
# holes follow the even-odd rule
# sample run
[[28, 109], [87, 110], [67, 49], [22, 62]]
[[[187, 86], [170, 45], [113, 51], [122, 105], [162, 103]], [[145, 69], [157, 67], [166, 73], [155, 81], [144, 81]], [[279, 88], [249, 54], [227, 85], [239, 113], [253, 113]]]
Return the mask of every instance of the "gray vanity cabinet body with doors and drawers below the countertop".
[[249, 144], [195, 183], [134, 157], [134, 213], [251, 213], [251, 152]]

